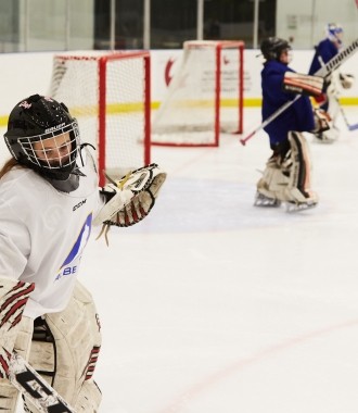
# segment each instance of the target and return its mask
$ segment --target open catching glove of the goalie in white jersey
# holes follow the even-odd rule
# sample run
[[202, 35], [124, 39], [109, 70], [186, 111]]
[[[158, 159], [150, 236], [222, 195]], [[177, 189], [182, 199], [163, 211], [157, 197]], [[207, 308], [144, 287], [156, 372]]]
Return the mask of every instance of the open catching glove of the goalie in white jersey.
[[127, 227], [143, 220], [152, 210], [167, 174], [155, 163], [129, 172], [100, 191], [105, 204], [93, 220], [94, 225]]

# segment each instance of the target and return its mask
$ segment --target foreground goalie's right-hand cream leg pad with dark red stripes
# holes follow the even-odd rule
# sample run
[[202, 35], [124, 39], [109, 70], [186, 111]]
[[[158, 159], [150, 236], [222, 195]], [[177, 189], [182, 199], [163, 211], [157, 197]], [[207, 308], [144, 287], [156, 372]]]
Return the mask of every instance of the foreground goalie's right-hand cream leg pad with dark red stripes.
[[[78, 412], [94, 413], [101, 391], [92, 374], [101, 347], [99, 316], [89, 291], [78, 281], [67, 308], [46, 314], [42, 325], [51, 340], [34, 340], [29, 362]], [[37, 330], [38, 331], [38, 330]], [[86, 405], [80, 410], [86, 401]], [[37, 412], [28, 406], [31, 412]]]

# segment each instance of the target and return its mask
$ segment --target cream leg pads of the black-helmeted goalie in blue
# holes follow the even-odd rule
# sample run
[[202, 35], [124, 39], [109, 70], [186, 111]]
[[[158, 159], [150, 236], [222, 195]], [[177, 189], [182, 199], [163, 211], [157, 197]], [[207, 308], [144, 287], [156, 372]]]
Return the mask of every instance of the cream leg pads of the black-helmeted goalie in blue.
[[283, 202], [318, 202], [310, 190], [311, 161], [306, 138], [298, 132], [289, 133], [290, 150], [282, 159], [272, 157], [266, 164], [257, 191]]

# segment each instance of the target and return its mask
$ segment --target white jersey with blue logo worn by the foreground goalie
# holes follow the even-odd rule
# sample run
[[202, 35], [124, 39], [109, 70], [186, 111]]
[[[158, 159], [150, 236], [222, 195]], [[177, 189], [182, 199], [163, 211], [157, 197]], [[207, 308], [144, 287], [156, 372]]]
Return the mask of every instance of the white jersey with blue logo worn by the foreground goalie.
[[24, 315], [65, 309], [73, 292], [92, 218], [102, 205], [93, 160], [80, 171], [79, 187], [57, 191], [29, 168], [15, 167], [0, 180], [0, 276], [35, 283]]

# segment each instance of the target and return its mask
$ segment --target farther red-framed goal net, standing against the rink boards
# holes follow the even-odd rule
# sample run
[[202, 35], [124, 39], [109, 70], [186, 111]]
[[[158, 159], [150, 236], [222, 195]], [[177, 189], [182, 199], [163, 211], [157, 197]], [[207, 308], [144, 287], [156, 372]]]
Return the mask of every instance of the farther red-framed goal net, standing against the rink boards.
[[153, 116], [152, 143], [219, 145], [243, 130], [243, 41], [189, 40]]

